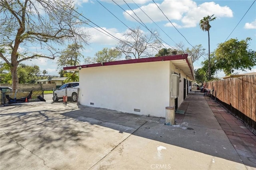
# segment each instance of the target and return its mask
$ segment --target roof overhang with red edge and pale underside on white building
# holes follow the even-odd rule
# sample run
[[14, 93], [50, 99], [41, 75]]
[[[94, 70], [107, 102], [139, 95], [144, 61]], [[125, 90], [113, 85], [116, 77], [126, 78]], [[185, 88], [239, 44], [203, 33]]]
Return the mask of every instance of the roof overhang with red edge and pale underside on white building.
[[110, 61], [105, 63], [94, 63], [94, 64], [64, 67], [63, 69], [68, 71], [79, 71], [80, 69], [89, 68], [89, 67], [102, 67], [102, 66], [108, 66], [108, 65], [146, 63], [146, 62], [155, 62], [155, 61], [172, 61], [172, 63], [177, 68], [181, 69], [191, 80], [194, 80], [194, 67], [192, 64], [191, 57], [188, 56], [188, 54]]

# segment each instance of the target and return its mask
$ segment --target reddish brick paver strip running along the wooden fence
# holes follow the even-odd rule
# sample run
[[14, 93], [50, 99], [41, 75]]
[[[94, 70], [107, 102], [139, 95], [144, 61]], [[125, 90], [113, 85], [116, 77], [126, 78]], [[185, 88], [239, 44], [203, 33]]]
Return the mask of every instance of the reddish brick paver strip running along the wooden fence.
[[245, 165], [256, 168], [256, 135], [218, 102], [205, 97], [218, 123]]

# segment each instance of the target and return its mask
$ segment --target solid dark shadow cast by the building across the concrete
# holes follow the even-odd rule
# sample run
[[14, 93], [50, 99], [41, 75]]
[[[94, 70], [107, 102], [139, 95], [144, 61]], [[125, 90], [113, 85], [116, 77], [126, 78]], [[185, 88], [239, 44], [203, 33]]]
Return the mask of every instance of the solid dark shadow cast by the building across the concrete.
[[[132, 135], [243, 163], [199, 91], [189, 95], [179, 107], [185, 109], [185, 115], [181, 116], [181, 121], [176, 120], [179, 125], [174, 126], [164, 125], [162, 118], [82, 105], [78, 107], [80, 110], [62, 115], [91, 125], [113, 128], [120, 133], [135, 128]], [[126, 127], [128, 131], [124, 130]]]

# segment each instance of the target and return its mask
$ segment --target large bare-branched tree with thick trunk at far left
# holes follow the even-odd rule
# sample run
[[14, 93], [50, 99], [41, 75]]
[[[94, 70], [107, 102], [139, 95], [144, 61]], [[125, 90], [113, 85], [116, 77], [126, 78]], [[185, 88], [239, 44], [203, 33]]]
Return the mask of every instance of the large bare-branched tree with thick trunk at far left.
[[20, 62], [54, 59], [58, 49], [53, 45], [75, 37], [88, 40], [78, 16], [70, 0], [0, 0], [0, 57], [10, 66], [13, 89]]

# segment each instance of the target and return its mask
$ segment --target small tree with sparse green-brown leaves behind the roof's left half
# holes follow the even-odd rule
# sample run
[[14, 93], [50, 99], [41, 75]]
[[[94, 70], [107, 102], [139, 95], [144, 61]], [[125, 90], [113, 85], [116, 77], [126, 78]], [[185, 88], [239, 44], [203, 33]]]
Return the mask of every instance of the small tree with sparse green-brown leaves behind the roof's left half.
[[103, 48], [101, 51], [98, 51], [95, 53], [95, 57], [86, 57], [84, 62], [87, 64], [90, 63], [104, 63], [109, 61], [116, 61], [120, 59], [122, 56], [122, 53], [118, 51], [117, 49], [109, 49], [109, 48]]

